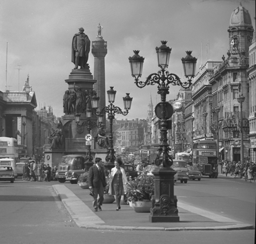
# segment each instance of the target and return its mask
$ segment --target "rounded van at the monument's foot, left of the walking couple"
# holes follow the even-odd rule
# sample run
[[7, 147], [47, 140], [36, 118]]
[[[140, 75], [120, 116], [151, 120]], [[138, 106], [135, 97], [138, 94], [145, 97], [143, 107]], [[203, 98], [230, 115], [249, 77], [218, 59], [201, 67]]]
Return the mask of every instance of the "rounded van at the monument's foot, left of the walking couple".
[[60, 183], [70, 181], [71, 184], [77, 184], [79, 175], [85, 172], [85, 158], [82, 155], [65, 155], [59, 162], [55, 178]]

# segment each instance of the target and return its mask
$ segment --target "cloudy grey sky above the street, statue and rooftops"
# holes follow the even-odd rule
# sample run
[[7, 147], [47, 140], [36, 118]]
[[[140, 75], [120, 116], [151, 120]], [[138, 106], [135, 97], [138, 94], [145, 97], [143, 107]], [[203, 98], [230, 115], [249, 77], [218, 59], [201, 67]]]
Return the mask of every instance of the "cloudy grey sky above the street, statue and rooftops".
[[[255, 1], [241, 2], [255, 28]], [[125, 118], [146, 118], [150, 96], [155, 106], [159, 95], [157, 86], [139, 89], [134, 84], [128, 61], [133, 50], [140, 50], [145, 57], [145, 80], [158, 72], [155, 47], [167, 40], [172, 48], [168, 70], [185, 79], [181, 57], [186, 56], [186, 50], [192, 50], [192, 56], [198, 58], [198, 68], [207, 57], [220, 61], [222, 55], [227, 56], [230, 16], [239, 4], [240, 0], [1, 0], [0, 90], [5, 91], [8, 42], [7, 89], [22, 90], [29, 74], [37, 109], [52, 106], [54, 114], [62, 116], [62, 97], [68, 88], [65, 79], [74, 68], [72, 37], [83, 27], [94, 40], [100, 22], [102, 36], [108, 42], [106, 89], [114, 86], [115, 106], [121, 108], [125, 93], [134, 98]], [[91, 53], [88, 63], [94, 74]], [[171, 86], [167, 99], [175, 99], [179, 89]]]

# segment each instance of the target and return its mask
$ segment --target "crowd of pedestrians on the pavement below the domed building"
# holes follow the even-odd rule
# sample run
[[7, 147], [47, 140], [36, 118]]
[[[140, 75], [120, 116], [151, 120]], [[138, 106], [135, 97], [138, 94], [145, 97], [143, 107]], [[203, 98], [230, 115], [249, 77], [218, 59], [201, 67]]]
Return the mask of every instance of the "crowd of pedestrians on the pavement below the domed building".
[[230, 174], [234, 175], [234, 178], [244, 178], [248, 181], [252, 181], [256, 175], [256, 163], [255, 162], [246, 162], [244, 165], [240, 161], [221, 161], [222, 164], [222, 174], [226, 176]]

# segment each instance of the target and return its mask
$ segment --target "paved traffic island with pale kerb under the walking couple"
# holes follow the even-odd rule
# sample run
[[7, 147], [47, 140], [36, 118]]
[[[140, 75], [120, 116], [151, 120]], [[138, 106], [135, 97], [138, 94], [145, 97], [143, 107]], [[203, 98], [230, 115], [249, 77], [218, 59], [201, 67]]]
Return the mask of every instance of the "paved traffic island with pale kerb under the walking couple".
[[137, 213], [129, 205], [102, 205], [102, 211], [94, 212], [88, 189], [78, 185], [52, 186], [74, 222], [81, 228], [127, 231], [216, 231], [254, 229], [253, 225], [235, 221], [209, 211], [186, 204], [178, 198], [179, 222], [151, 223], [149, 213]]

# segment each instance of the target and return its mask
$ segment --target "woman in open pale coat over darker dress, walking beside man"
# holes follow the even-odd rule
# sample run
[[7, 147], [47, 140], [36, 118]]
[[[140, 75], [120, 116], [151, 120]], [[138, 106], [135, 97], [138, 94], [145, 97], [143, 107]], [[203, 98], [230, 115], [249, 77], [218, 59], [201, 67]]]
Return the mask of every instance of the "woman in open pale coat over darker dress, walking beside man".
[[117, 203], [117, 211], [121, 209], [120, 201], [121, 197], [125, 193], [125, 188], [127, 184], [127, 176], [125, 175], [124, 168], [120, 167], [122, 165], [122, 160], [117, 158], [115, 160], [115, 167], [111, 169], [109, 174], [109, 194], [115, 195], [115, 202]]

